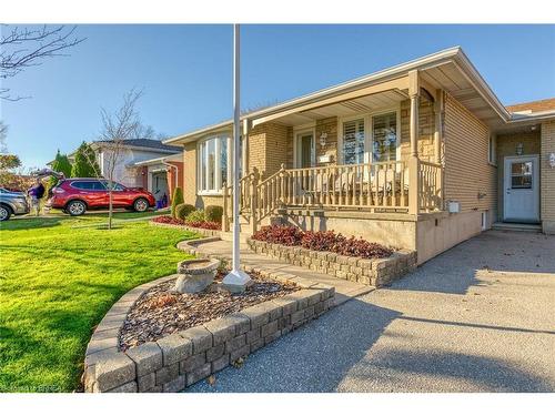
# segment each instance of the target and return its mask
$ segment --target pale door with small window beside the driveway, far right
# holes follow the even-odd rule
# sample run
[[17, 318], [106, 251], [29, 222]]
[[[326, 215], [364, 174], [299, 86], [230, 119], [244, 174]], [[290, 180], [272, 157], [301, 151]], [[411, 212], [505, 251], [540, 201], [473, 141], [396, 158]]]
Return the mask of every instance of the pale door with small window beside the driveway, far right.
[[539, 221], [539, 172], [537, 156], [505, 158], [505, 221]]

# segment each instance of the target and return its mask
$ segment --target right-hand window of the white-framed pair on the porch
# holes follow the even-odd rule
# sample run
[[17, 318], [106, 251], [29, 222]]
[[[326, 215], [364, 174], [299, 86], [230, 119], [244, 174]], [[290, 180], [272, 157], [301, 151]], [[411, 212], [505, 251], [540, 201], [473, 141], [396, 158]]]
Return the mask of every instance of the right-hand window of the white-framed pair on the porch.
[[397, 156], [397, 113], [374, 115], [372, 119], [372, 161], [395, 161]]

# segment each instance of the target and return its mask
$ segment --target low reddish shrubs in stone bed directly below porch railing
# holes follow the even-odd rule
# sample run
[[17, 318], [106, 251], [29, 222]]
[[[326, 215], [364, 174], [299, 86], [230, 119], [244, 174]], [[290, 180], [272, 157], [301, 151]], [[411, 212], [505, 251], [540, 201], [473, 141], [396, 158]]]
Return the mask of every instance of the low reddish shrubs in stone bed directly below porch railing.
[[354, 236], [347, 239], [333, 231], [301, 231], [295, 226], [263, 226], [252, 236], [253, 240], [273, 244], [301, 245], [304, 248], [319, 252], [333, 252], [341, 255], [381, 258], [389, 257], [393, 250], [377, 243], [371, 243]]

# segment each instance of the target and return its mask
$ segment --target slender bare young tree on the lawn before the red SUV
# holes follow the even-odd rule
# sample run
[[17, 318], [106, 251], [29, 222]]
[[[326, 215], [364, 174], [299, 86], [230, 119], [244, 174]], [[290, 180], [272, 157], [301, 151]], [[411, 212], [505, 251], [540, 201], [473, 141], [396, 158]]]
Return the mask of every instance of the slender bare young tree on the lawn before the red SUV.
[[123, 104], [113, 113], [105, 109], [101, 110], [102, 131], [98, 144], [102, 148], [102, 160], [104, 177], [108, 181], [108, 229], [112, 229], [112, 192], [115, 185], [114, 174], [123, 153], [124, 141], [133, 139], [140, 123], [139, 113], [135, 110], [137, 102], [142, 91], [131, 90], [123, 95]]

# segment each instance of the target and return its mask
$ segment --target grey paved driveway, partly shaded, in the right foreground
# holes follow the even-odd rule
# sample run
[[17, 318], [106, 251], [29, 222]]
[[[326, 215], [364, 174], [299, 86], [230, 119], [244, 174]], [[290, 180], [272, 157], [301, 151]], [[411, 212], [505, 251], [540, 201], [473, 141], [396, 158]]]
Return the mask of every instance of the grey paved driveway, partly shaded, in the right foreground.
[[188, 392], [554, 392], [555, 237], [487, 232]]

